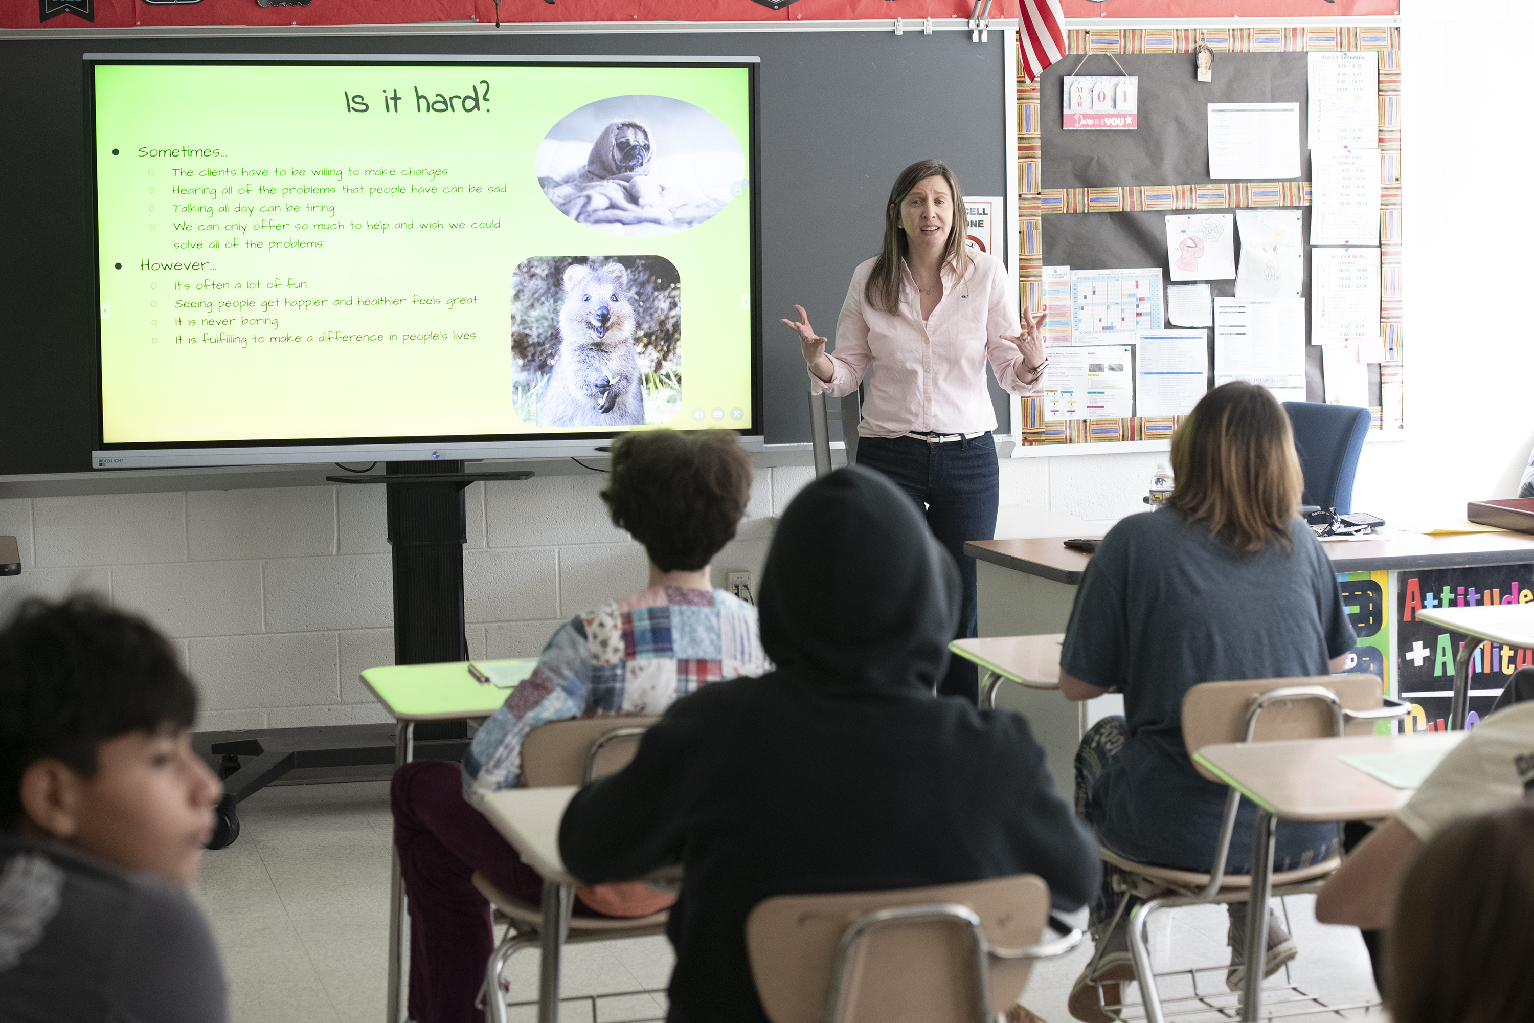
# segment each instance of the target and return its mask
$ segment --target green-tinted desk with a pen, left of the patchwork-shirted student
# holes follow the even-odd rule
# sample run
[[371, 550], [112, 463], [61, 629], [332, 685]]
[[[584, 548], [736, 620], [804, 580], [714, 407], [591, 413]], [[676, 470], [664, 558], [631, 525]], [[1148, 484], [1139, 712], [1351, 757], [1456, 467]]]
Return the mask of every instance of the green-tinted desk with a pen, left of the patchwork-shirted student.
[[[492, 661], [500, 664], [503, 661]], [[509, 661], [505, 661], [509, 663]], [[526, 658], [518, 663], [535, 663]], [[440, 664], [399, 664], [370, 667], [362, 672], [362, 684], [400, 729], [394, 732], [394, 765], [416, 759], [417, 721], [468, 721], [495, 713], [511, 689], [499, 689], [476, 681], [463, 661]], [[390, 842], [393, 873], [388, 906], [388, 1015], [385, 1023], [399, 1023], [400, 986], [405, 983], [405, 886], [399, 876], [399, 850]]]

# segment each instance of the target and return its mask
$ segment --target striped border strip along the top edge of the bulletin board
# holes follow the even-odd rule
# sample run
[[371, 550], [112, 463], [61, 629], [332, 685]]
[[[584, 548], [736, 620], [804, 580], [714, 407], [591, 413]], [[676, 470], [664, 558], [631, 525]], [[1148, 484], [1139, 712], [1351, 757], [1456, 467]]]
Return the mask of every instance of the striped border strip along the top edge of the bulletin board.
[[1301, 54], [1305, 51], [1399, 51], [1399, 28], [1250, 29], [1071, 29], [1071, 54], [1192, 54], [1200, 40], [1216, 54]]

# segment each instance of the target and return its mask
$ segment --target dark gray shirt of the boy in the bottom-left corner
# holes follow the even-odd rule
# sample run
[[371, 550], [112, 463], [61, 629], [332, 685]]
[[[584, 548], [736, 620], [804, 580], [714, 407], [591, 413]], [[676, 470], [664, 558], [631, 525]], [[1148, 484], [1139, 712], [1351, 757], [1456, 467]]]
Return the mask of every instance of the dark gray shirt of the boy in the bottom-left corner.
[[218, 948], [184, 891], [0, 831], [0, 1020], [224, 1018]]

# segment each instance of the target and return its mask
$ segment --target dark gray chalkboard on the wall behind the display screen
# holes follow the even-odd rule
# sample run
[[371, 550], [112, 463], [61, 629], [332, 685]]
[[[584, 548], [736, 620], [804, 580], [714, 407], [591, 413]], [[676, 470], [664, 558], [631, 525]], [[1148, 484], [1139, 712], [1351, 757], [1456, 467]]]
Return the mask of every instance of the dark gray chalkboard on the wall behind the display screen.
[[[971, 195], [1005, 195], [1003, 34], [890, 31], [563, 35], [287, 35], [144, 38], [91, 32], [0, 40], [0, 187], [14, 201], [0, 245], [0, 475], [80, 472], [97, 429], [97, 314], [81, 54], [529, 54], [759, 57], [765, 433], [810, 440], [804, 360], [779, 316], [804, 305], [836, 327], [853, 267], [876, 255], [896, 173], [948, 161]], [[996, 388], [1000, 428], [1005, 396]]]

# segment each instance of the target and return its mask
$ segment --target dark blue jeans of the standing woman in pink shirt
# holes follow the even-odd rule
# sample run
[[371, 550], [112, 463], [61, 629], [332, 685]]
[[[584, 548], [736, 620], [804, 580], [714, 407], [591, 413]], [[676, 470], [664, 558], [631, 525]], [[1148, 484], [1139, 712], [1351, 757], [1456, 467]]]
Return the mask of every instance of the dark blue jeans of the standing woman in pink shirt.
[[[976, 632], [974, 558], [963, 552], [965, 540], [996, 538], [996, 503], [1000, 497], [1000, 471], [991, 434], [948, 443], [927, 443], [916, 437], [859, 437], [858, 465], [884, 472], [911, 495], [927, 517], [937, 541], [953, 555], [963, 581], [959, 633]], [[980, 679], [973, 661], [950, 658], [948, 675], [937, 692], [966, 696], [976, 702]]]

